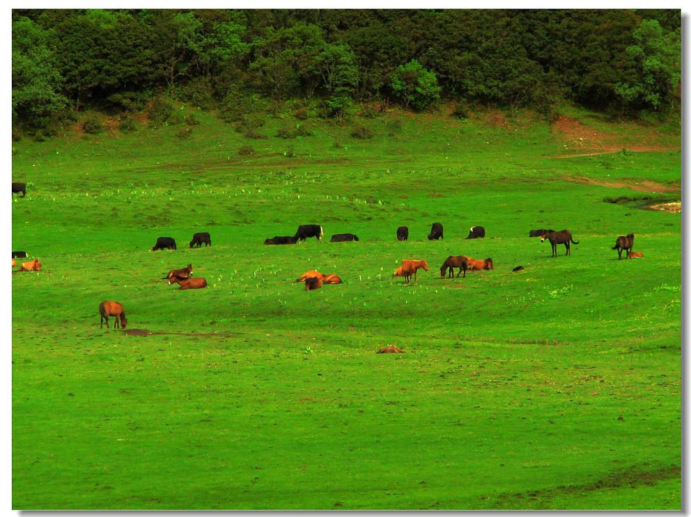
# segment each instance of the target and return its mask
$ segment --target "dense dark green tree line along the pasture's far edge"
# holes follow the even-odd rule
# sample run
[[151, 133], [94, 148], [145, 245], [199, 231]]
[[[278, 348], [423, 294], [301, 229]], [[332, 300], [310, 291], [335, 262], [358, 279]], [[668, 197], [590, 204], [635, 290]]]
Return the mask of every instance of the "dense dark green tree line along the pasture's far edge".
[[549, 113], [568, 100], [676, 109], [679, 10], [13, 10], [13, 122], [166, 91], [205, 109], [258, 98], [423, 110], [440, 99]]

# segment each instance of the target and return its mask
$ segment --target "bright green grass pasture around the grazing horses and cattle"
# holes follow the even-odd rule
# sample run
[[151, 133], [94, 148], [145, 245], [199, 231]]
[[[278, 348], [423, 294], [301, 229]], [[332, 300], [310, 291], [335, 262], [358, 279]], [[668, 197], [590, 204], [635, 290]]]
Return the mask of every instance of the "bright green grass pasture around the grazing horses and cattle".
[[[12, 276], [14, 509], [681, 509], [681, 218], [641, 209], [680, 199], [678, 130], [636, 152], [650, 127], [580, 113], [619, 150], [572, 156], [597, 149], [527, 115], [392, 112], [368, 140], [197, 116], [14, 143], [12, 246], [43, 264]], [[302, 223], [325, 241], [263, 246]], [[441, 278], [448, 255], [495, 269]], [[391, 278], [404, 258], [430, 271]], [[190, 262], [207, 289], [162, 280]]]

